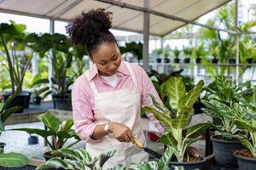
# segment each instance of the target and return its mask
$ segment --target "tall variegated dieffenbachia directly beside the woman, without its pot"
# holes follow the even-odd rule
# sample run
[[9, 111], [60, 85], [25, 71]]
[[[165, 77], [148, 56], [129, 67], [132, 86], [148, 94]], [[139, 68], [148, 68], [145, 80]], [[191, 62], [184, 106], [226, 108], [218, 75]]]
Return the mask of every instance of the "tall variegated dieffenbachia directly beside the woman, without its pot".
[[183, 161], [185, 150], [189, 144], [200, 139], [200, 137], [192, 138], [191, 135], [203, 131], [211, 125], [209, 122], [196, 124], [189, 127], [186, 135], [183, 136], [183, 130], [189, 125], [194, 114], [193, 105], [198, 99], [203, 85], [203, 81], [198, 82], [195, 88], [186, 92], [182, 78], [171, 77], [166, 82], [166, 93], [171, 110], [165, 105], [160, 105], [153, 95], [150, 97], [153, 99], [154, 107], [143, 106], [144, 111], [154, 114], [154, 117], [166, 127], [166, 133], [160, 138], [160, 142], [172, 148], [177, 161]]

